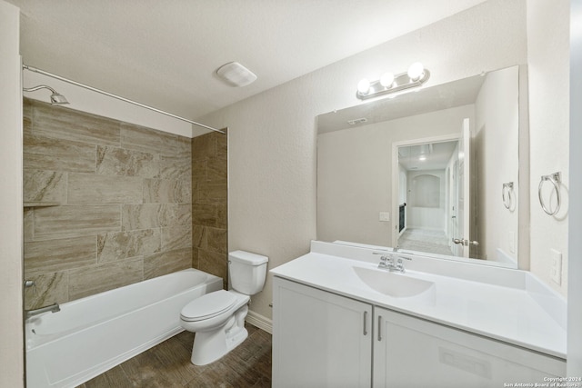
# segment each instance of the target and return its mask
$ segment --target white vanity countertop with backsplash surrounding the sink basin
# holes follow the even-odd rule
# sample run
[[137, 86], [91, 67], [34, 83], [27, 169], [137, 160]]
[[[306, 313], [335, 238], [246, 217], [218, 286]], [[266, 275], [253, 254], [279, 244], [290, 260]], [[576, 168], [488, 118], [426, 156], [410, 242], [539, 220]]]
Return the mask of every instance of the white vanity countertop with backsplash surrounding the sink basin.
[[[271, 273], [566, 359], [566, 301], [530, 273], [414, 257], [405, 262], [406, 274], [396, 275], [433, 282], [434, 289], [418, 296], [392, 297], [373, 290], [356, 275], [356, 267], [376, 270], [379, 256], [372, 255], [372, 251], [314, 242], [309, 254], [276, 267]], [[439, 270], [430, 271], [436, 265]]]

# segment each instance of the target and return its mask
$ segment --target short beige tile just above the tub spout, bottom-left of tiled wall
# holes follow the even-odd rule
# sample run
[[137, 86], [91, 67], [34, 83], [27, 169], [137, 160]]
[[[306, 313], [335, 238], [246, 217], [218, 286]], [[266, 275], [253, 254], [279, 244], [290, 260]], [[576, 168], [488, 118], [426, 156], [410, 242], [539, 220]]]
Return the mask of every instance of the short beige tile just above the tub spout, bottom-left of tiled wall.
[[35, 282], [33, 287], [25, 288], [26, 310], [69, 301], [69, 279], [66, 271], [26, 276], [26, 280]]

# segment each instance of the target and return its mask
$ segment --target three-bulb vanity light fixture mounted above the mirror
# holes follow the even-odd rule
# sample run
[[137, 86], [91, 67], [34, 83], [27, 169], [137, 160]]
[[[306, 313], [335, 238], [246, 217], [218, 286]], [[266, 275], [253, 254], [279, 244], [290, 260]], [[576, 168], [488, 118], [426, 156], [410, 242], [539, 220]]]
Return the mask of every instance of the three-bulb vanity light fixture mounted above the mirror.
[[408, 67], [406, 73], [393, 75], [385, 73], [380, 79], [370, 82], [366, 78], [357, 83], [356, 97], [360, 100], [388, 95], [411, 87], [422, 86], [430, 77], [430, 72], [420, 62], [415, 62]]

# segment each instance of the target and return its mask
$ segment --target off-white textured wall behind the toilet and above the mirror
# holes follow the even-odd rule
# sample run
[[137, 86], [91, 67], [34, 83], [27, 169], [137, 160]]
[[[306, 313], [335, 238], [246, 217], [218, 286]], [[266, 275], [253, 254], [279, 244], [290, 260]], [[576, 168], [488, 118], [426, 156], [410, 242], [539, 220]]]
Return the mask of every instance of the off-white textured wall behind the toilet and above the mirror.
[[[356, 84], [422, 61], [428, 85], [524, 64], [525, 0], [492, 0], [202, 118], [229, 127], [230, 250], [270, 257], [269, 268], [316, 238], [317, 114], [358, 104]], [[260, 76], [260, 75], [259, 75]], [[251, 310], [270, 317], [270, 276]]]

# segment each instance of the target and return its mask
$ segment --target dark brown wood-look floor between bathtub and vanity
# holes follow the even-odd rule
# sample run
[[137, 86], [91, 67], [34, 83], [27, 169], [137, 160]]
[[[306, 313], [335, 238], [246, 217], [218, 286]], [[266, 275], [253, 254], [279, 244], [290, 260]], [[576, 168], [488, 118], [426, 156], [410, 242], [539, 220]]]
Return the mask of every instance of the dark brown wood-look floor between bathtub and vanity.
[[246, 323], [248, 338], [225, 357], [190, 363], [194, 333], [182, 332], [79, 388], [263, 388], [271, 386], [271, 334]]

